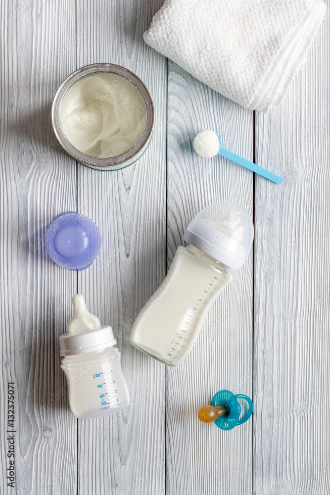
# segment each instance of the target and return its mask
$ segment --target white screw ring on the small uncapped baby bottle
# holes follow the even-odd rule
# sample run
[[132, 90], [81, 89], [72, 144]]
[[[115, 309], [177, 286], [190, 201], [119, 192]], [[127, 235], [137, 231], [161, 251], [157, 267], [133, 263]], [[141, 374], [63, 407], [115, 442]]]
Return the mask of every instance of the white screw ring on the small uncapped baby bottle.
[[82, 334], [61, 335], [59, 338], [59, 353], [61, 356], [74, 356], [106, 349], [116, 344], [117, 341], [113, 336], [112, 328], [107, 325]]

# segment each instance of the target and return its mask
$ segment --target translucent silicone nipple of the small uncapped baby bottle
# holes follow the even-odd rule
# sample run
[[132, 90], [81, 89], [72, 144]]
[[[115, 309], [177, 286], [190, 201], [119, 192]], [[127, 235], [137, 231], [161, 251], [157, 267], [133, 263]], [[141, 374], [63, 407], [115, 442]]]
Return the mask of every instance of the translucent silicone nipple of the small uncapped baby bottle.
[[101, 322], [86, 307], [85, 298], [81, 294], [72, 297], [73, 316], [66, 326], [68, 335], [84, 334], [90, 330], [101, 328]]

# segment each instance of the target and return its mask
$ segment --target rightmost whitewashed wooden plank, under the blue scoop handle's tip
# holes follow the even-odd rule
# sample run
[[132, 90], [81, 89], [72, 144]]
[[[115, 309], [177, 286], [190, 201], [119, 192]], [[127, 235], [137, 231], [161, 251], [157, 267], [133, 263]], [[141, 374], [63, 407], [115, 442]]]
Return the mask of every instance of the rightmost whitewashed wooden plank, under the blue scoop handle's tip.
[[329, 2], [306, 66], [257, 115], [253, 493], [330, 493]]

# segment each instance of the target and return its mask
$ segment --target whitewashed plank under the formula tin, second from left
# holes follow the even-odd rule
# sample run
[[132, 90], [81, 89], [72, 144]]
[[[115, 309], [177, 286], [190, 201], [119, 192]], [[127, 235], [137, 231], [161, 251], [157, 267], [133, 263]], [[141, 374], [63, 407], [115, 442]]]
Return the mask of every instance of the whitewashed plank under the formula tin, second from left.
[[160, 5], [77, 3], [78, 66], [123, 65], [141, 77], [155, 104], [152, 142], [136, 165], [118, 172], [78, 168], [78, 209], [95, 220], [103, 241], [95, 263], [80, 272], [78, 288], [113, 326], [131, 396], [123, 413], [79, 421], [81, 495], [161, 495], [165, 489], [165, 366], [129, 342], [135, 317], [166, 269], [166, 60], [142, 40]]

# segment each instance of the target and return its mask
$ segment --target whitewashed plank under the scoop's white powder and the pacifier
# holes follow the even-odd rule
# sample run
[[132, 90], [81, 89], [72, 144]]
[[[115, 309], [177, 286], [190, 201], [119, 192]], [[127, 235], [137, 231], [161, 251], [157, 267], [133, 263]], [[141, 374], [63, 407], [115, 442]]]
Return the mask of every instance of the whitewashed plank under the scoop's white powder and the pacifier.
[[[223, 146], [253, 157], [253, 113], [223, 98], [169, 61], [168, 264], [193, 216], [230, 200], [253, 212], [253, 175], [191, 146], [203, 129], [219, 132]], [[198, 409], [222, 389], [252, 396], [252, 255], [214, 303], [189, 356], [167, 368], [166, 493], [248, 494], [252, 489], [252, 422], [230, 432], [202, 424]]]

